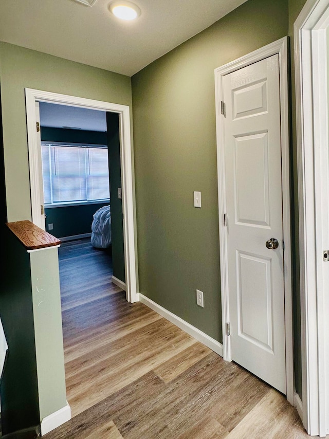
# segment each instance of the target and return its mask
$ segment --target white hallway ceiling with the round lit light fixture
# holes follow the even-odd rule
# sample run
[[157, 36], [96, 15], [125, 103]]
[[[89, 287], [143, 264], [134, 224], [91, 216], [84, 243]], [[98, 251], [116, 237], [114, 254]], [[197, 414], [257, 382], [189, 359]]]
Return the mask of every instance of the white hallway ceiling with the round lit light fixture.
[[75, 0], [0, 0], [0, 40], [132, 76], [246, 0], [133, 0], [134, 22]]

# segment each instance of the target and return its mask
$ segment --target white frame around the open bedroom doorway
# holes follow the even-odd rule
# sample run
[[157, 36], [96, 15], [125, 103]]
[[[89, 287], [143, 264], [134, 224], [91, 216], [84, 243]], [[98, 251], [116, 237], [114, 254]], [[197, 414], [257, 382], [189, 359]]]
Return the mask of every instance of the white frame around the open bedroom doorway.
[[36, 133], [35, 102], [50, 102], [79, 106], [89, 109], [109, 111], [119, 115], [120, 158], [122, 182], [123, 240], [126, 277], [126, 300], [136, 302], [137, 298], [137, 248], [135, 244], [136, 224], [134, 219], [133, 161], [130, 135], [130, 108], [127, 105], [114, 104], [76, 96], [44, 92], [31, 88], [25, 89], [27, 137], [30, 167], [30, 188], [32, 222], [44, 228], [41, 215], [38, 138]]

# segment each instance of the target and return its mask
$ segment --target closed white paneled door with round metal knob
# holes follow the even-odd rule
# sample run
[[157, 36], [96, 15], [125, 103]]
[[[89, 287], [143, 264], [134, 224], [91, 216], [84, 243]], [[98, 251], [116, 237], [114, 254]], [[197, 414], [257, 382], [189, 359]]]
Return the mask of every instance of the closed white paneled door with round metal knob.
[[286, 393], [279, 56], [223, 77], [231, 358]]

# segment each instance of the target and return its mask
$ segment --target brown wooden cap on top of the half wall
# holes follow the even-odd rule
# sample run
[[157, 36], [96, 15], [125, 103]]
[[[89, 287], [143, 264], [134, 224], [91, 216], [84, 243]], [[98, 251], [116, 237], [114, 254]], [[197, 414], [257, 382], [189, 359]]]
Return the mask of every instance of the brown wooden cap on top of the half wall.
[[21, 241], [27, 250], [38, 250], [40, 248], [53, 247], [60, 245], [61, 241], [40, 227], [25, 221], [6, 223], [11, 232]]

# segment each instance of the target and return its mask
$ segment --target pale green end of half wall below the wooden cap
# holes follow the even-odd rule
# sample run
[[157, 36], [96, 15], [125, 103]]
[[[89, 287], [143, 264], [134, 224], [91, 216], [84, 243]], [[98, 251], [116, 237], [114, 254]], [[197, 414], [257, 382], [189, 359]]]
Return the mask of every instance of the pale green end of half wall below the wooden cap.
[[39, 410], [42, 420], [66, 406], [57, 248], [30, 253], [30, 266]]

